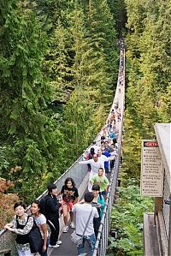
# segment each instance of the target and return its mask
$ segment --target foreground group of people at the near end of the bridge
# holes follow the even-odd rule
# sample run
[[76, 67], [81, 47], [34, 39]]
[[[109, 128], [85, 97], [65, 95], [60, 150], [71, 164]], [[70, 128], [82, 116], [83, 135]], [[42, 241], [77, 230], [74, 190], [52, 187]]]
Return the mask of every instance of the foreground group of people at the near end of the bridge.
[[[103, 169], [98, 170], [99, 179], [103, 174]], [[106, 178], [107, 179], [107, 178]], [[70, 215], [70, 228], [75, 229], [76, 233], [81, 236], [85, 229], [85, 223], [87, 217], [91, 212], [91, 206], [93, 208], [91, 212], [90, 221], [85, 230], [83, 244], [77, 247], [78, 255], [84, 252], [85, 241], [88, 242], [90, 247], [90, 255], [92, 255], [98, 228], [100, 225], [101, 217], [103, 215], [103, 208], [105, 205], [105, 199], [103, 197], [104, 188], [107, 188], [109, 181], [106, 181], [105, 187], [100, 187], [95, 184], [95, 180], [91, 181], [91, 192], [85, 193], [84, 199], [79, 200], [78, 189], [75, 187], [74, 180], [70, 177], [66, 179], [62, 189], [57, 193], [56, 184], [50, 184], [48, 186], [48, 194], [45, 196], [45, 211], [44, 214], [41, 211], [41, 200], [33, 200], [29, 213], [26, 205], [22, 202], [16, 202], [14, 205], [15, 217], [11, 223], [7, 223], [4, 229], [16, 234], [16, 248], [19, 256], [32, 256], [36, 253], [32, 253], [29, 241], [29, 233], [31, 232], [34, 222], [38, 225], [38, 229], [42, 235], [43, 247], [38, 253], [41, 256], [47, 256], [48, 247], [60, 247], [62, 241], [58, 239], [59, 236], [59, 212], [62, 211], [62, 217], [64, 221], [63, 233], [67, 233], [68, 226], [68, 213]], [[97, 181], [97, 183], [100, 183]], [[104, 183], [104, 182], [103, 182]], [[62, 198], [59, 196], [62, 194]], [[75, 212], [75, 217], [74, 217]], [[74, 223], [74, 218], [76, 224]], [[48, 227], [50, 227], [50, 234]]]

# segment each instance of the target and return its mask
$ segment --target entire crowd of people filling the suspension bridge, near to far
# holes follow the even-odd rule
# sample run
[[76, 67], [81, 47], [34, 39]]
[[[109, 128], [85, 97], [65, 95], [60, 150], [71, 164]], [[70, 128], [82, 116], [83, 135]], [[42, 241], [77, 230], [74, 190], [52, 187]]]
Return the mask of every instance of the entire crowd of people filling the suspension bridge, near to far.
[[[121, 92], [124, 82], [123, 65], [124, 55], [121, 50], [119, 92]], [[59, 191], [57, 191], [56, 184], [49, 184], [48, 194], [40, 201], [33, 200], [29, 213], [22, 201], [15, 203], [15, 217], [11, 223], [4, 226], [4, 229], [9, 229], [16, 234], [16, 248], [19, 256], [35, 255], [31, 252], [29, 243], [29, 233], [34, 223], [38, 225], [43, 239], [43, 247], [38, 252], [41, 256], [48, 255], [48, 247], [60, 247], [62, 244], [62, 241], [58, 239], [60, 213], [62, 213], [64, 222], [63, 233], [67, 233], [71, 228], [75, 229], [76, 234], [80, 237], [84, 234], [82, 243], [77, 246], [78, 255], [84, 253], [85, 241], [89, 245], [89, 255], [93, 254], [108, 195], [108, 174], [114, 168], [115, 158], [117, 158], [119, 146], [117, 122], [120, 121], [121, 109], [117, 98], [114, 109], [110, 111], [109, 118], [100, 132], [101, 140], [93, 141], [89, 150], [84, 153], [83, 161], [78, 162], [87, 164], [87, 171], [90, 173], [88, 192], [84, 194], [83, 199], [80, 199], [74, 180], [68, 177]], [[47, 225], [49, 225], [50, 233]]]

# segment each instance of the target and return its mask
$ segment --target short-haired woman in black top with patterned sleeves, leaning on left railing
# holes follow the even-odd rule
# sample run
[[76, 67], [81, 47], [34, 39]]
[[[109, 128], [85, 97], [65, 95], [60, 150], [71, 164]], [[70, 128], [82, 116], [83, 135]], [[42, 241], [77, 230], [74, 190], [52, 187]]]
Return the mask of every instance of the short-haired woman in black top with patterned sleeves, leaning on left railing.
[[14, 205], [15, 217], [12, 223], [4, 226], [4, 229], [16, 234], [16, 248], [19, 256], [33, 256], [29, 244], [29, 233], [33, 227], [33, 217], [26, 211], [26, 205], [23, 202], [16, 202]]

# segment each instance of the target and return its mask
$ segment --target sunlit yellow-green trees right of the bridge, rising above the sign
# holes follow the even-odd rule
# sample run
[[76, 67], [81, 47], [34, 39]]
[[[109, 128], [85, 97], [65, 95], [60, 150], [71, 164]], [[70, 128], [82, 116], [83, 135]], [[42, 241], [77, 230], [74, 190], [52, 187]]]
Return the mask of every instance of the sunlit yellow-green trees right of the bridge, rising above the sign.
[[170, 122], [171, 6], [169, 1], [125, 2], [129, 33], [123, 177], [139, 179], [141, 140], [154, 139], [156, 122]]

